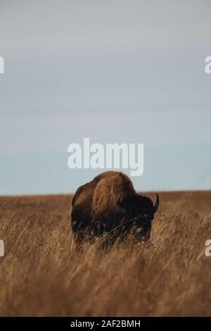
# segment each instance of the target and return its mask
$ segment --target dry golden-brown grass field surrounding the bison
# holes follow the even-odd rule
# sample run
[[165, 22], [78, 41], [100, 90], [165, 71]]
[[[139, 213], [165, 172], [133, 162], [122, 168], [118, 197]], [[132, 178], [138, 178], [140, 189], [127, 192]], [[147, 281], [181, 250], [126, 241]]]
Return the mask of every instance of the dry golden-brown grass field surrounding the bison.
[[211, 316], [211, 192], [161, 192], [151, 242], [107, 253], [75, 246], [71, 197], [0, 197], [0, 316]]

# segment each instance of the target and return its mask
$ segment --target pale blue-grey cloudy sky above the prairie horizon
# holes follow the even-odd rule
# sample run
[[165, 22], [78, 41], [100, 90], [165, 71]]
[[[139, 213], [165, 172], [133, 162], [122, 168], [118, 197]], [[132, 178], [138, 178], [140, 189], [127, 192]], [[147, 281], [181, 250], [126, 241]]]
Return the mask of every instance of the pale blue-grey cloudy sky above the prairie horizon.
[[[135, 189], [211, 189], [210, 1], [0, 0], [0, 194], [75, 192], [68, 145], [143, 143]], [[124, 170], [129, 174], [129, 170]]]

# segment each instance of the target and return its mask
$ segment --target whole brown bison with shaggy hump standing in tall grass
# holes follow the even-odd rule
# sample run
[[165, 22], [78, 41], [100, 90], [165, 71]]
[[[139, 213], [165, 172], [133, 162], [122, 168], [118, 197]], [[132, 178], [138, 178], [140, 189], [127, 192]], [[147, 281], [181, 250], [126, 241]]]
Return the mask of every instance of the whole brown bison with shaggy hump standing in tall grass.
[[127, 175], [107, 171], [77, 189], [72, 199], [72, 232], [76, 239], [106, 232], [115, 238], [130, 233], [146, 241], [158, 206], [158, 193], [153, 204], [150, 198], [135, 192]]

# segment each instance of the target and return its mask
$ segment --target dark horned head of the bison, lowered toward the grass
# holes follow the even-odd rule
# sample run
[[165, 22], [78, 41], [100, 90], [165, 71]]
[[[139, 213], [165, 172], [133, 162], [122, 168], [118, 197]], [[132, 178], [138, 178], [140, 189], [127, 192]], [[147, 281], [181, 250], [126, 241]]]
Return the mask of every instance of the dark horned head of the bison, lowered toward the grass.
[[150, 237], [151, 222], [158, 210], [159, 196], [156, 193], [156, 201], [153, 204], [147, 196], [134, 194], [117, 199], [117, 210], [124, 216], [124, 225], [127, 230], [132, 230], [139, 241], [147, 241]]

